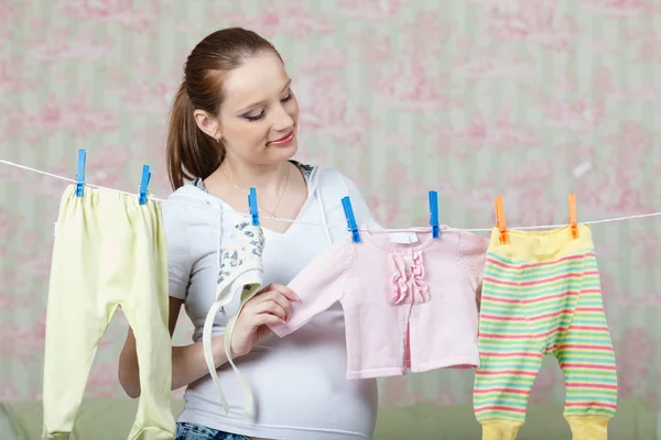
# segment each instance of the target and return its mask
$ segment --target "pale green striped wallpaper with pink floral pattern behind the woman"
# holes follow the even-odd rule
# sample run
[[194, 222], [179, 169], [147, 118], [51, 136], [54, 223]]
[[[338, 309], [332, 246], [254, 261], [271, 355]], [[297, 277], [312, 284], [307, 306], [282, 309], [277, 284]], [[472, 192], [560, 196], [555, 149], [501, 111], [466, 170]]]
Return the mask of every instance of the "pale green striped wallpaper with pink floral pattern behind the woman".
[[[281, 51], [303, 162], [355, 179], [388, 227], [491, 228], [661, 211], [661, 3], [651, 0], [0, 0], [0, 158], [165, 197], [187, 53], [224, 26]], [[0, 399], [39, 399], [52, 224], [66, 182], [0, 163]], [[594, 224], [620, 397], [661, 408], [661, 217]], [[119, 314], [90, 396], [121, 396]], [[182, 314], [175, 343], [191, 326]], [[383, 380], [383, 405], [468, 404], [473, 372]], [[177, 392], [181, 395], [181, 391]], [[531, 400], [562, 402], [546, 359]]]

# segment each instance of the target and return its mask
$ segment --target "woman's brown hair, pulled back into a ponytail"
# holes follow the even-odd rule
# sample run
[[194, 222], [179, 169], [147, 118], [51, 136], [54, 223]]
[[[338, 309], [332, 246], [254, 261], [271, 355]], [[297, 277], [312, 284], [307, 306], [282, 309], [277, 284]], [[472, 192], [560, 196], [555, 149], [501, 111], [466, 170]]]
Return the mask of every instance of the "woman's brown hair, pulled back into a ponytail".
[[224, 74], [263, 51], [280, 57], [275, 47], [259, 34], [229, 28], [207, 35], [188, 55], [167, 128], [167, 175], [173, 189], [183, 186], [184, 179], [207, 178], [223, 163], [223, 142], [199, 130], [193, 112], [199, 109], [217, 117], [224, 99]]

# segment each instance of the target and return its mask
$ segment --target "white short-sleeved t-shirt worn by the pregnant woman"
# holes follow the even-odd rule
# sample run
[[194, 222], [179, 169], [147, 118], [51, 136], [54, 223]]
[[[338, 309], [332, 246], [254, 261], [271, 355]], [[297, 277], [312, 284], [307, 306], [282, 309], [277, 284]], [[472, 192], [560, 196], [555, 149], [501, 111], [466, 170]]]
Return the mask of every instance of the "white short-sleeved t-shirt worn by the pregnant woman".
[[[308, 198], [285, 233], [264, 228], [263, 282], [289, 284], [316, 255], [346, 237], [342, 198], [349, 196], [358, 224], [380, 228], [354, 183], [337, 170], [299, 164]], [[209, 195], [199, 179], [178, 188], [163, 204], [170, 295], [185, 309], [202, 339], [216, 294], [218, 249], [241, 217]], [[220, 209], [221, 208], [221, 209]], [[219, 233], [220, 232], [220, 233]], [[225, 307], [213, 334], [223, 334], [239, 298]], [[370, 439], [377, 416], [375, 380], [347, 380], [344, 314], [339, 304], [286, 338], [267, 337], [237, 366], [254, 395], [254, 420], [242, 416], [243, 394], [229, 364], [218, 369], [230, 413], [226, 414], [209, 375], [192, 383], [178, 420], [249, 437], [284, 440]]]

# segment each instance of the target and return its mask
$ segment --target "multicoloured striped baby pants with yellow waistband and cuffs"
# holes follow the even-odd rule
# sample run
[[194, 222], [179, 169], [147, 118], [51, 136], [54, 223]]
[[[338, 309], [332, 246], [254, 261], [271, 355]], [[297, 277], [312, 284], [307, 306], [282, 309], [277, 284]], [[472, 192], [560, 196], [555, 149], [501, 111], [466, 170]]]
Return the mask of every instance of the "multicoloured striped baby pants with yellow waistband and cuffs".
[[589, 227], [494, 230], [479, 322], [474, 409], [484, 440], [516, 439], [542, 358], [565, 376], [564, 417], [574, 440], [607, 438], [617, 374]]

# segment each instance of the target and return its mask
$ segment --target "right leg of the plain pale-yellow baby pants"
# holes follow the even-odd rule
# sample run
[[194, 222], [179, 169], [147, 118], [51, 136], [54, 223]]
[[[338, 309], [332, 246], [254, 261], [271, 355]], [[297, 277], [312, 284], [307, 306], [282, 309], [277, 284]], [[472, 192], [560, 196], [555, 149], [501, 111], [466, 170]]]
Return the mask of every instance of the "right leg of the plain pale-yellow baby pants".
[[122, 310], [136, 336], [140, 366], [140, 402], [131, 440], [170, 440], [175, 437], [175, 420], [170, 406], [172, 385], [172, 344], [169, 320], [167, 254], [160, 206], [139, 205], [126, 198], [132, 226], [131, 246], [127, 249], [129, 284]]

